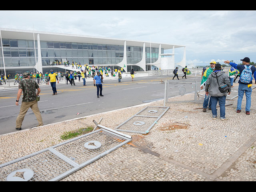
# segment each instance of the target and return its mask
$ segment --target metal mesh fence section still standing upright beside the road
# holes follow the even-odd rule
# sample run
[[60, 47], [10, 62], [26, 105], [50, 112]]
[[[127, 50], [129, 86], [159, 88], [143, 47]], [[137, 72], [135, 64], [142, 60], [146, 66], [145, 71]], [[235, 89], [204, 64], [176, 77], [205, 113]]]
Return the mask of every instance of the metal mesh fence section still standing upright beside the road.
[[198, 97], [201, 81], [166, 80], [164, 106], [167, 103], [199, 102]]

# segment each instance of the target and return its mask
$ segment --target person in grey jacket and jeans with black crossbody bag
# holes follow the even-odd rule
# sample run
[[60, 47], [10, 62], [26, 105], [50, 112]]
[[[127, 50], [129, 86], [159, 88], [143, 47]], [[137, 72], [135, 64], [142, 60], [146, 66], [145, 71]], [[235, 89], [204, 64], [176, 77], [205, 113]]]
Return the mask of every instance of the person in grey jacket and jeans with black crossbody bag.
[[[226, 84], [228, 90], [220, 91], [219, 85]], [[216, 105], [219, 102], [220, 105], [220, 120], [225, 120], [225, 104], [226, 96], [230, 95], [231, 84], [228, 75], [224, 71], [221, 71], [221, 65], [216, 64], [214, 72], [212, 72], [205, 83], [205, 94], [210, 95], [212, 100], [212, 119], [217, 118]]]

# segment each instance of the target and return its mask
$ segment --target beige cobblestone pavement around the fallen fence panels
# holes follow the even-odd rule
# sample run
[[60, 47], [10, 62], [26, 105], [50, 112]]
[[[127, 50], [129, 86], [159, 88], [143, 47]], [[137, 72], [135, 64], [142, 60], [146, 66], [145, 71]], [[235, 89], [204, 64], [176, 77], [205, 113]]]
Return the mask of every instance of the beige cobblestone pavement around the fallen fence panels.
[[[168, 103], [170, 109], [148, 134], [133, 134], [132, 141], [70, 174], [61, 181], [255, 181], [256, 90], [251, 114], [236, 113], [237, 98], [227, 101], [226, 117], [212, 119], [202, 103]], [[101, 124], [116, 126], [157, 101], [0, 136], [0, 164], [63, 142], [64, 132]], [[219, 110], [218, 116], [219, 116]], [[114, 117], [114, 118], [113, 118]], [[181, 124], [182, 123], [182, 124]]]

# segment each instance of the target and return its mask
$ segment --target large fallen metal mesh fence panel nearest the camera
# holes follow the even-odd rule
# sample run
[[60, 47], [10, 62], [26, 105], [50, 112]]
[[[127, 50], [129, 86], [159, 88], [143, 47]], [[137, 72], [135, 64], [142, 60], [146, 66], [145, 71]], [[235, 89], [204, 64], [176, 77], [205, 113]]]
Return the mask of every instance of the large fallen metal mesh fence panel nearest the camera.
[[[98, 125], [100, 126], [100, 125]], [[0, 165], [0, 181], [57, 181], [131, 141], [101, 128]]]

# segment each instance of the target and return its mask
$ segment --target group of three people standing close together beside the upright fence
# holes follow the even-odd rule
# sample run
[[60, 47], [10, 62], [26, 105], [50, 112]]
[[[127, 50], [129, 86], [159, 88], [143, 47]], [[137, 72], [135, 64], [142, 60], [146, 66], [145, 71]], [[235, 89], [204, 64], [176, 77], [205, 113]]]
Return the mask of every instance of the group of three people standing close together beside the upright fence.
[[228, 60], [224, 63], [229, 64], [231, 67], [228, 74], [223, 71], [219, 63], [212, 61], [209, 68], [204, 68], [202, 71], [201, 90], [205, 85], [205, 97], [203, 103], [203, 112], [206, 108], [212, 110], [212, 119], [217, 118], [216, 105], [220, 106], [220, 120], [226, 120], [225, 104], [226, 96], [230, 95], [233, 87], [233, 82], [239, 76], [238, 81], [238, 100], [236, 112], [241, 112], [242, 99], [246, 96], [245, 113], [250, 115], [251, 107], [251, 94], [252, 94], [252, 80], [253, 76], [256, 84], [256, 68], [250, 64], [250, 58], [245, 57], [241, 59], [242, 64], [238, 65]]

